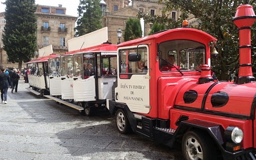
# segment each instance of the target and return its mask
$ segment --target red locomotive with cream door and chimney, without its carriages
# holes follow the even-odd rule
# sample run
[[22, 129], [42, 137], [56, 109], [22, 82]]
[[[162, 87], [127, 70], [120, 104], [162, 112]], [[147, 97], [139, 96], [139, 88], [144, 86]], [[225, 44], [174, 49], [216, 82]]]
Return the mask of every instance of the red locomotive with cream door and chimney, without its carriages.
[[187, 160], [256, 159], [255, 18], [251, 5], [237, 7], [240, 65], [234, 82], [212, 78], [210, 50], [217, 39], [187, 25], [118, 44], [117, 79], [106, 102], [117, 130], [181, 148]]

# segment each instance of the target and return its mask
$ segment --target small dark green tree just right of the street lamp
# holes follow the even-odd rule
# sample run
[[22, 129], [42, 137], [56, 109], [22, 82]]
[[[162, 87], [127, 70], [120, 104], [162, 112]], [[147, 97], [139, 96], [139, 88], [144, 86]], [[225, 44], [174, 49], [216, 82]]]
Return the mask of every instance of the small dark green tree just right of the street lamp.
[[129, 18], [126, 21], [124, 41], [142, 37], [141, 24], [138, 18]]

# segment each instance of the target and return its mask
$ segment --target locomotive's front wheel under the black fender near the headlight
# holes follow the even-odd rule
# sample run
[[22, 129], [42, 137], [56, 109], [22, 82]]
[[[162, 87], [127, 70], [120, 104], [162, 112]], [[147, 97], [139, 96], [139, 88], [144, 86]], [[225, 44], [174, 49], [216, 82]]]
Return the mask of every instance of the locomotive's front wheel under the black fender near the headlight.
[[182, 153], [186, 160], [216, 159], [214, 143], [201, 131], [187, 131], [182, 138]]

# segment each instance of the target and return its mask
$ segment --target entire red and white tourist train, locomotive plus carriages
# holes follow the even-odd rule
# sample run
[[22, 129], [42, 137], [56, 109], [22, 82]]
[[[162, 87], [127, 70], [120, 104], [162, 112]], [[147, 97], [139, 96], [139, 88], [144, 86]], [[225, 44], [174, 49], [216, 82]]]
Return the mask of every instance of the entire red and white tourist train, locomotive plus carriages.
[[43, 67], [44, 76], [40, 86], [29, 79], [29, 90], [85, 115], [106, 105], [120, 133], [133, 131], [181, 148], [187, 160], [256, 159], [256, 82], [250, 60], [255, 18], [250, 5], [236, 10], [240, 66], [234, 82], [212, 76], [210, 51], [217, 39], [184, 23], [118, 45], [30, 61], [31, 67]]

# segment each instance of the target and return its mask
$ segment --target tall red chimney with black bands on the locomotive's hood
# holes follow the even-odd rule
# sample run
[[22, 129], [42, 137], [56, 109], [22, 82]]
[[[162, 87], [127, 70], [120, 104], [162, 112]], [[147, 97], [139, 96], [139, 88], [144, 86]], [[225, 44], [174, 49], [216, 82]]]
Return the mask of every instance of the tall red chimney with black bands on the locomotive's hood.
[[251, 69], [251, 45], [250, 28], [255, 21], [253, 8], [249, 4], [240, 5], [236, 8], [233, 18], [234, 24], [239, 29], [239, 74], [236, 84], [243, 84], [255, 81]]

